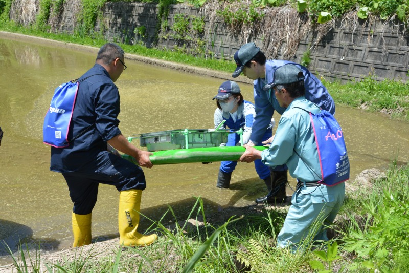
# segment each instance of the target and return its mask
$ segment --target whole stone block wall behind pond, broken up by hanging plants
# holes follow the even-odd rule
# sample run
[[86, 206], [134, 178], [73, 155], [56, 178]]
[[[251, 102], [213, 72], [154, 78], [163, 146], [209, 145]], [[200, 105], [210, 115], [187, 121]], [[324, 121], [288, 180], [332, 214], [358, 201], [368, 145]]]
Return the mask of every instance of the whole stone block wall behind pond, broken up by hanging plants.
[[[112, 41], [142, 42], [150, 47], [154, 41], [157, 12], [157, 6], [153, 4], [109, 2], [105, 5], [103, 22], [98, 21], [95, 29], [99, 31], [104, 25], [105, 35]], [[181, 13], [203, 16], [198, 9], [173, 5], [168, 17], [169, 26], [173, 25], [174, 15]], [[60, 29], [72, 31], [70, 16], [64, 16], [65, 23], [61, 23]], [[146, 27], [144, 39], [133, 33], [139, 26]], [[405, 33], [403, 26], [392, 22], [358, 20], [346, 24], [339, 20], [319, 43], [316, 43], [312, 34], [307, 34], [291, 60], [301, 62], [303, 54], [311, 49], [308, 68], [328, 80], [359, 80], [373, 74], [378, 80], [391, 78], [406, 82], [409, 71], [409, 37], [407, 32], [406, 36], [402, 36], [402, 33]], [[210, 26], [208, 18], [205, 18], [205, 33], [201, 38], [207, 41], [208, 50], [214, 52], [216, 57], [226, 59], [231, 59], [245, 43], [242, 36], [227, 31], [223, 22], [218, 21]], [[255, 42], [262, 49], [262, 42]], [[175, 40], [171, 35], [158, 45], [167, 49], [174, 46]]]

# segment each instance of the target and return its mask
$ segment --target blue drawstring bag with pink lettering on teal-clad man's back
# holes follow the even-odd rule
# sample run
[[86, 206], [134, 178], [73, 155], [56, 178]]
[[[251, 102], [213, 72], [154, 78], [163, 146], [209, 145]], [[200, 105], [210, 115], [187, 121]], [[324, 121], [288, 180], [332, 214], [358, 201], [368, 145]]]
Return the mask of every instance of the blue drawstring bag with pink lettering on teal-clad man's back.
[[318, 114], [312, 114], [303, 108], [300, 109], [310, 114], [314, 130], [322, 177], [318, 183], [334, 186], [348, 180], [350, 165], [344, 134], [334, 116], [323, 109]]

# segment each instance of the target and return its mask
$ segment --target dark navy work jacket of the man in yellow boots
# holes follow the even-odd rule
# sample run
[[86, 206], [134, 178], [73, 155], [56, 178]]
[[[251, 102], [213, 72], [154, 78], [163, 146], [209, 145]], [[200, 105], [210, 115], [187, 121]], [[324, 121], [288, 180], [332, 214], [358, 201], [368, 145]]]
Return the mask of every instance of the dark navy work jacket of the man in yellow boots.
[[69, 129], [69, 140], [78, 137], [66, 148], [51, 148], [50, 170], [54, 172], [74, 172], [86, 167], [87, 162], [106, 151], [109, 139], [121, 133], [117, 119], [119, 92], [108, 72], [95, 64], [79, 80], [83, 78], [86, 79], [79, 83]]

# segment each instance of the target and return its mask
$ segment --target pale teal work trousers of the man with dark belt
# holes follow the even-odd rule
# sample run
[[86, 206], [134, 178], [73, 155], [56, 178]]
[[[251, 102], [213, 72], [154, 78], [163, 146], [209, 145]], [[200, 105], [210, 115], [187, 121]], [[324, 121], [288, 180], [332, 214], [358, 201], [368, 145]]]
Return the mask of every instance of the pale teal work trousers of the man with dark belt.
[[335, 220], [339, 208], [344, 202], [345, 183], [329, 187], [301, 186], [291, 198], [284, 226], [277, 236], [278, 247], [291, 247], [296, 251], [302, 240], [309, 234], [314, 221], [323, 219], [321, 228], [316, 230], [314, 241], [328, 241], [326, 226]]

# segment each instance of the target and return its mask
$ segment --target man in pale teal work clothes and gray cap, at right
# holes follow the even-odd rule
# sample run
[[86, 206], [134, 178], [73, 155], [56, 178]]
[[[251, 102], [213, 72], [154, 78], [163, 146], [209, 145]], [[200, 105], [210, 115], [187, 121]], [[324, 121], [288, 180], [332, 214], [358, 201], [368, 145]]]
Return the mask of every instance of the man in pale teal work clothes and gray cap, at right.
[[[319, 184], [322, 179], [320, 158], [308, 112], [321, 110], [304, 96], [304, 75], [293, 64], [283, 65], [275, 71], [271, 91], [281, 107], [285, 107], [270, 148], [258, 151], [246, 145], [239, 161], [261, 159], [268, 166], [286, 164], [290, 175], [297, 178], [297, 190], [284, 226], [277, 237], [279, 247], [297, 249], [309, 233], [316, 241], [327, 241], [326, 226], [332, 223], [344, 201], [345, 183], [334, 186]], [[301, 108], [301, 109], [300, 109]], [[304, 111], [304, 110], [308, 111]], [[312, 231], [314, 221], [324, 224]]]

